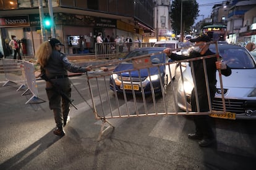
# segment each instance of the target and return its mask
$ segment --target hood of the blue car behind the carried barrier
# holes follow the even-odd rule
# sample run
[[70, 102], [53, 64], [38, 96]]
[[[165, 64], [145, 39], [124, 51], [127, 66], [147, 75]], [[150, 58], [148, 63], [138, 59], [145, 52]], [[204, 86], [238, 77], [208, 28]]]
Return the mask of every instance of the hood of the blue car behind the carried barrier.
[[[129, 77], [129, 71], [125, 71], [125, 70], [134, 70], [134, 65], [132, 63], [120, 63], [119, 65], [117, 65], [117, 67], [114, 69], [113, 72], [124, 71], [121, 73], [122, 76]], [[158, 67], [151, 67], [149, 68], [149, 70], [150, 70], [150, 75], [158, 75]], [[160, 72], [163, 72], [161, 70], [163, 70], [162, 66], [160, 67]], [[118, 75], [120, 75], [120, 73]], [[130, 71], [130, 76], [139, 78], [139, 71], [137, 70]], [[148, 69], [147, 68], [140, 69], [140, 76], [147, 77]]]

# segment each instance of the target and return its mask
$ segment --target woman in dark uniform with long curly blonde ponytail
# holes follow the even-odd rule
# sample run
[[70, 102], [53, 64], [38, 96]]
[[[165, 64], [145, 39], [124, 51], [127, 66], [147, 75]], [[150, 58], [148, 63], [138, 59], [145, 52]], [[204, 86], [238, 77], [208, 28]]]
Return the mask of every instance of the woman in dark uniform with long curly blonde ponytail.
[[92, 70], [90, 66], [77, 67], [70, 63], [66, 55], [61, 52], [61, 46], [64, 45], [58, 39], [51, 38], [40, 45], [35, 55], [41, 67], [40, 76], [46, 80], [49, 108], [54, 113], [57, 128], [53, 133], [58, 136], [65, 135], [63, 127], [69, 121], [71, 87], [67, 71], [84, 73]]

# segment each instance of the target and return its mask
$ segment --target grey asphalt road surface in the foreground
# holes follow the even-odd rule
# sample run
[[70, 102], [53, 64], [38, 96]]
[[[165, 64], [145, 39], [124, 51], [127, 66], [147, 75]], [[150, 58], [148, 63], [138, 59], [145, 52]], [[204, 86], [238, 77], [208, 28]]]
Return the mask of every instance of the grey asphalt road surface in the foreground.
[[36, 104], [25, 104], [31, 94], [17, 91], [19, 84], [0, 83], [0, 169], [255, 169], [255, 120], [211, 118], [216, 142], [208, 148], [187, 139], [190, 117], [175, 115], [109, 119], [115, 128], [98, 141], [102, 122], [90, 106], [86, 77], [70, 79], [87, 102], [73, 87], [79, 110], [71, 108], [62, 138], [53, 134], [44, 81], [36, 83], [46, 102]]

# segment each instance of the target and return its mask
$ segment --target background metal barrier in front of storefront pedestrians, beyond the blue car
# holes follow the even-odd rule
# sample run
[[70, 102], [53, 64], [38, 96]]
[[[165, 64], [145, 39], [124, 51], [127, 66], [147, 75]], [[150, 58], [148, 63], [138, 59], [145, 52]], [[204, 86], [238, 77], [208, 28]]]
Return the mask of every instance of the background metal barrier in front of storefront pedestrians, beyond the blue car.
[[154, 43], [150, 42], [103, 42], [95, 43], [95, 56], [96, 59], [117, 59], [120, 54], [128, 53], [140, 47], [152, 47]]

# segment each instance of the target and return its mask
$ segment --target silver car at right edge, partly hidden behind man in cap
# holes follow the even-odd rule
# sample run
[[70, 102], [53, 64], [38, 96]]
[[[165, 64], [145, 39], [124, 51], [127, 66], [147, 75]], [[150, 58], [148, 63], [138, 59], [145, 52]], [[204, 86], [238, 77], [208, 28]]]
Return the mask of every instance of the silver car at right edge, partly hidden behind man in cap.
[[[215, 117], [226, 119], [256, 119], [256, 62], [254, 57], [247, 49], [237, 45], [231, 44], [218, 44], [220, 55], [223, 57], [224, 62], [231, 67], [232, 74], [230, 76], [222, 76], [224, 99], [226, 111], [229, 117], [218, 115]], [[210, 50], [216, 52], [215, 44], [211, 44]], [[228, 58], [233, 62], [228, 63]], [[181, 78], [178, 81], [178, 94], [177, 102], [179, 108], [186, 110], [186, 103], [190, 107], [190, 94], [194, 88], [194, 83], [191, 75], [191, 69], [187, 64], [186, 69], [183, 71], [184, 91]], [[213, 110], [223, 111], [223, 103], [221, 99], [221, 89], [219, 74], [216, 73], [217, 91], [215, 99], [212, 102]]]

